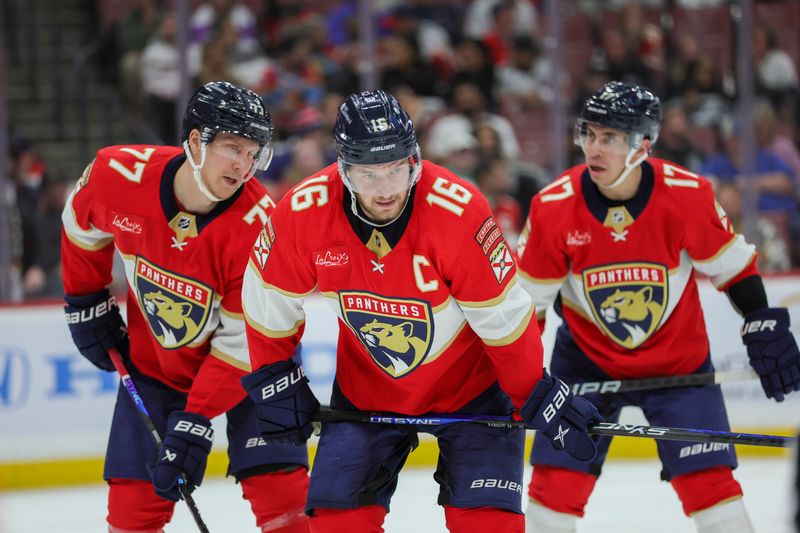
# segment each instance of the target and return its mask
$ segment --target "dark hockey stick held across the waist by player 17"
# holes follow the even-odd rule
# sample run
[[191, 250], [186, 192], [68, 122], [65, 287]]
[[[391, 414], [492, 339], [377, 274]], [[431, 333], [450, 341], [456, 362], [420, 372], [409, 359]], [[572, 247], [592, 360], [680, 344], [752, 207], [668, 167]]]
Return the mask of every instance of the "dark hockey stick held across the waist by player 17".
[[572, 392], [578, 396], [591, 393], [613, 394], [640, 390], [667, 389], [670, 387], [694, 387], [697, 385], [715, 385], [729, 381], [745, 381], [758, 379], [755, 370], [729, 370], [727, 372], [705, 372], [686, 376], [662, 376], [641, 379], [615, 379], [608, 381], [586, 381], [570, 385]]

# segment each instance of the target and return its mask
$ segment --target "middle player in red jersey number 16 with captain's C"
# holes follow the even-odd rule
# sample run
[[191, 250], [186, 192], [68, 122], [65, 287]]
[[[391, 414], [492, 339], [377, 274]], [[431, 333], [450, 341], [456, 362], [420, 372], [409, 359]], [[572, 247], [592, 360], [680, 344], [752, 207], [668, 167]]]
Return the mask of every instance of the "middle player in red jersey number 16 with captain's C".
[[[302, 443], [319, 403], [291, 360], [315, 288], [339, 318], [336, 409], [510, 415], [594, 456], [596, 409], [542, 373], [530, 297], [478, 190], [420, 158], [408, 114], [384, 91], [350, 95], [338, 163], [292, 189], [255, 243], [243, 306], [255, 371], [242, 383], [267, 442]], [[546, 421], [545, 421], [546, 419]], [[431, 431], [451, 531], [524, 531], [524, 432], [472, 424]], [[415, 446], [407, 426], [330, 423], [311, 473], [311, 530], [382, 531]], [[566, 455], [566, 454], [565, 454]]]

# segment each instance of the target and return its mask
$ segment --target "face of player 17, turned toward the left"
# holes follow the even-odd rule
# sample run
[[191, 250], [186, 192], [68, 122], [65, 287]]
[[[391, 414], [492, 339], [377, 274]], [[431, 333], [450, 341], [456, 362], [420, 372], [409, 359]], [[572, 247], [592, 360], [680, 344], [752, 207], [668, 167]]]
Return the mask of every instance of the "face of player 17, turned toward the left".
[[601, 186], [613, 183], [625, 169], [625, 158], [630, 149], [628, 134], [613, 128], [586, 124], [580, 140], [592, 181]]

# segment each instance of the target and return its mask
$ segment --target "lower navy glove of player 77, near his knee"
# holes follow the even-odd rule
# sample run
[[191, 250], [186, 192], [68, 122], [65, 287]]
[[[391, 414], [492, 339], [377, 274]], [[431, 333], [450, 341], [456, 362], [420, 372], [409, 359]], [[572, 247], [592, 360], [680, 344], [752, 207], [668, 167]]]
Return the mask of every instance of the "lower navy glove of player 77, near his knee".
[[149, 465], [156, 494], [174, 502], [180, 499], [178, 476], [183, 474], [185, 490], [192, 492], [203, 482], [214, 430], [203, 415], [175, 411], [169, 415], [167, 434], [158, 448], [154, 465]]

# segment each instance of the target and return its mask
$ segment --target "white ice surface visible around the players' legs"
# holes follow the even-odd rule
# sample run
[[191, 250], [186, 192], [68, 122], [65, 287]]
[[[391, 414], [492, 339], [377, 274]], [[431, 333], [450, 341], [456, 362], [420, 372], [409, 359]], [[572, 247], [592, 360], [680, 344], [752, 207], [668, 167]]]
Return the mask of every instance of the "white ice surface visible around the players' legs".
[[[741, 460], [736, 477], [745, 505], [759, 533], [792, 533], [794, 497], [789, 459]], [[433, 471], [407, 468], [400, 477], [387, 533], [446, 531], [436, 505]], [[530, 475], [526, 471], [526, 481]], [[579, 522], [579, 533], [694, 532], [681, 512], [671, 486], [659, 481], [655, 461], [609, 462]], [[0, 493], [0, 533], [105, 533], [105, 485]], [[230, 479], [212, 478], [195, 492], [195, 500], [212, 533], [256, 532], [247, 502]], [[196, 533], [185, 505], [179, 504], [167, 533]]]

